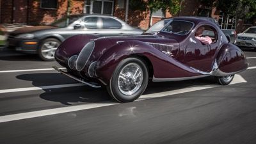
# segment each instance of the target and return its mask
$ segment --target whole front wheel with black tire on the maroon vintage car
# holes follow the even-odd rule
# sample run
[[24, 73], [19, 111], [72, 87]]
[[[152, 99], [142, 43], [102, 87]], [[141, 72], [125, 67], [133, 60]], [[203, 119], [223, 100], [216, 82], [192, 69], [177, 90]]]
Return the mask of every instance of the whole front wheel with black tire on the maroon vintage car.
[[132, 102], [140, 97], [148, 84], [148, 68], [143, 60], [122, 60], [113, 72], [108, 92], [118, 102]]

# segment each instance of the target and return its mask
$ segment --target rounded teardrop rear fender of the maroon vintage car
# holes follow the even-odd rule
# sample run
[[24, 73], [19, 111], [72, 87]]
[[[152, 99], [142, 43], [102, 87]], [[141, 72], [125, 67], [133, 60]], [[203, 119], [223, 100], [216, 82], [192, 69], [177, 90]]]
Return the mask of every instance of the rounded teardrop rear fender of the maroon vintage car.
[[222, 45], [216, 60], [218, 68], [226, 74], [236, 74], [248, 67], [244, 52], [233, 44]]

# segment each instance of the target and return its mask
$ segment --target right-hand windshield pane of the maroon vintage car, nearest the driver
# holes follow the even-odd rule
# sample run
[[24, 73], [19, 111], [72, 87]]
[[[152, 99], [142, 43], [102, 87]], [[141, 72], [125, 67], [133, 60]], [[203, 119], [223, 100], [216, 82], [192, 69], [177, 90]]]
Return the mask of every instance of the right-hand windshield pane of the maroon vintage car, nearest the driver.
[[182, 20], [173, 20], [166, 26], [163, 31], [169, 32], [169, 33], [174, 33], [177, 35], [187, 35], [189, 31], [191, 31], [193, 27], [192, 22], [188, 21], [182, 21]]

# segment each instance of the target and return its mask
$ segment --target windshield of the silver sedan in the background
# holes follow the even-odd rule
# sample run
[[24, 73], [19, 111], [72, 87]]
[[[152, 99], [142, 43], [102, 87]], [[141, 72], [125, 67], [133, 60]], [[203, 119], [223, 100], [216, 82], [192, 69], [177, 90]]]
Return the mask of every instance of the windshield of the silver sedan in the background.
[[74, 21], [76, 21], [77, 19], [79, 19], [79, 15], [71, 15], [71, 16], [66, 16], [66, 17], [63, 17], [61, 19], [58, 19], [57, 21], [55, 22], [52, 22], [52, 24], [50, 24], [50, 26], [56, 26], [56, 27], [59, 27], [59, 28], [64, 28], [70, 24], [72, 24]]

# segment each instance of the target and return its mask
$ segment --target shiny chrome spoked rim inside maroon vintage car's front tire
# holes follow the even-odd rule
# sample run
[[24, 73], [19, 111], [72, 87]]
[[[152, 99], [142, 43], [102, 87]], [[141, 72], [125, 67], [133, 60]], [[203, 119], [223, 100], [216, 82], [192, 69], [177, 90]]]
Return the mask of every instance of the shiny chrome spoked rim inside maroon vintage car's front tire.
[[122, 68], [118, 76], [118, 89], [124, 95], [132, 95], [141, 87], [143, 82], [143, 71], [140, 65], [129, 63]]

